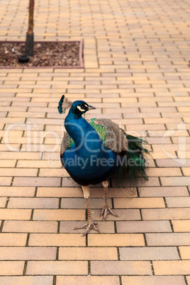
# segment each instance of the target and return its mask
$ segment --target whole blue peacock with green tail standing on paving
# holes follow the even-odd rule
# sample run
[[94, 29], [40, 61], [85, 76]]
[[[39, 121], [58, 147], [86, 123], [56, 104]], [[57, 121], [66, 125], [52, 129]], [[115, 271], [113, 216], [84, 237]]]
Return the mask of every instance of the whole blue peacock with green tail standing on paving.
[[128, 135], [116, 123], [106, 118], [85, 120], [86, 111], [96, 109], [85, 101], [73, 103], [62, 95], [59, 113], [69, 113], [65, 118], [65, 135], [62, 139], [60, 160], [74, 181], [82, 186], [86, 199], [87, 221], [82, 227], [84, 234], [94, 229], [99, 232], [97, 223], [91, 218], [89, 203], [90, 184], [102, 183], [104, 186], [104, 206], [100, 213], [103, 220], [111, 214], [118, 217], [108, 206], [108, 179], [117, 173], [117, 177], [128, 177], [135, 184], [138, 177], [147, 180], [145, 156], [149, 154], [145, 140]]

